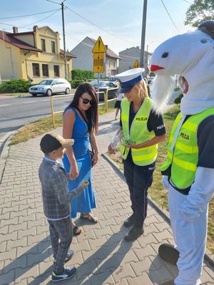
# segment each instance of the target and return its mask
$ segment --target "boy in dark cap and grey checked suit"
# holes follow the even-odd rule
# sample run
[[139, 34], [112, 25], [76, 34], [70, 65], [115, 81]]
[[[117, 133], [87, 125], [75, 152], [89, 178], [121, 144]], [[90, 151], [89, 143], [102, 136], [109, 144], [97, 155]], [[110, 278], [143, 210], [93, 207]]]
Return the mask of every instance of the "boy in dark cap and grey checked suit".
[[[51, 247], [54, 252], [54, 271], [52, 281], [71, 278], [75, 267], [66, 267], [64, 263], [71, 259], [73, 251], [68, 251], [72, 242], [71, 199], [80, 195], [88, 186], [83, 182], [72, 192], [68, 192], [66, 171], [57, 161], [63, 157], [65, 147], [73, 145], [74, 140], [64, 139], [61, 135], [46, 134], [40, 142], [44, 160], [39, 167], [39, 179], [44, 204], [44, 214], [49, 222]], [[58, 241], [60, 239], [60, 242]]]

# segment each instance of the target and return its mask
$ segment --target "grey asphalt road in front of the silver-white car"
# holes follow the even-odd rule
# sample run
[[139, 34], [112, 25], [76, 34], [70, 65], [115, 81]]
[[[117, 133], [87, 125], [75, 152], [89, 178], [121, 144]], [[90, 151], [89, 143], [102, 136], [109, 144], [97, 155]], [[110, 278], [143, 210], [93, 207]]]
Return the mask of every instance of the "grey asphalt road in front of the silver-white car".
[[[68, 98], [55, 98], [54, 111], [63, 110], [70, 102]], [[33, 97], [0, 97], [0, 139], [7, 133], [21, 128], [34, 120], [51, 114], [51, 98], [46, 96]]]

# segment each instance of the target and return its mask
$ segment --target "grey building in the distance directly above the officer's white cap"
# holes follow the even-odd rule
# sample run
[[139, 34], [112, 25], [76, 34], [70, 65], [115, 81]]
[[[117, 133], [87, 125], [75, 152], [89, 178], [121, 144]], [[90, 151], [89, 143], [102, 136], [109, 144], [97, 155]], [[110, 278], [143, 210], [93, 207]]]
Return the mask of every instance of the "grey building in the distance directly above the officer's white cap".
[[[119, 62], [119, 73], [128, 71], [128, 69], [133, 68], [133, 64], [136, 60], [140, 62], [141, 48], [139, 46], [126, 48], [124, 51], [119, 52], [119, 56], [121, 58]], [[148, 53], [148, 51], [144, 52], [144, 68], [146, 69], [146, 74], [148, 74], [150, 70], [151, 56], [152, 53]]]

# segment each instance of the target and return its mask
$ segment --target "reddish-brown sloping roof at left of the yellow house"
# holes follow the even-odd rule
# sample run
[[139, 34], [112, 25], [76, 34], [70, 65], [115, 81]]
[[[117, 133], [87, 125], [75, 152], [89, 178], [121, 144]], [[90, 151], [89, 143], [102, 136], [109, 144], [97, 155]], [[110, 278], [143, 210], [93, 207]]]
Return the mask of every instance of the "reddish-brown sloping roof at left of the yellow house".
[[0, 31], [0, 39], [6, 41], [6, 43], [11, 43], [11, 45], [16, 46], [17, 48], [24, 49], [26, 51], [39, 51], [42, 52], [41, 49], [35, 48], [31, 46], [29, 43], [25, 43], [24, 41], [20, 41], [18, 38], [15, 38], [14, 35], [16, 33], [9, 33], [6, 31]]

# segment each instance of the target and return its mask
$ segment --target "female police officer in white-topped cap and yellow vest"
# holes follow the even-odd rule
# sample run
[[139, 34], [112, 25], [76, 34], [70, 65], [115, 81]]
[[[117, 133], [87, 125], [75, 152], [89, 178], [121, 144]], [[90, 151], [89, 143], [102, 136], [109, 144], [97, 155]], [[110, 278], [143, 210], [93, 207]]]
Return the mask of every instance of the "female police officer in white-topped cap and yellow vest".
[[[152, 100], [148, 98], [143, 68], [135, 68], [115, 76], [120, 83], [120, 93], [126, 98], [121, 103], [121, 128], [116, 133], [123, 137], [124, 175], [128, 184], [133, 214], [123, 223], [131, 230], [125, 237], [133, 241], [143, 234], [146, 219], [148, 187], [153, 181], [158, 142], [165, 140], [165, 126], [161, 115], [152, 110]], [[125, 141], [124, 141], [125, 139]], [[114, 144], [108, 145], [108, 152], [114, 152]]]

